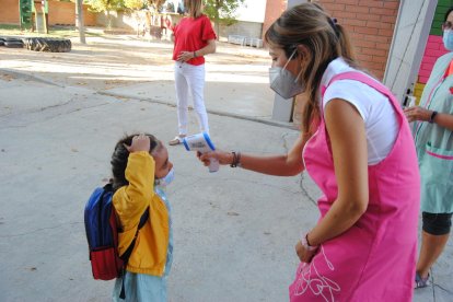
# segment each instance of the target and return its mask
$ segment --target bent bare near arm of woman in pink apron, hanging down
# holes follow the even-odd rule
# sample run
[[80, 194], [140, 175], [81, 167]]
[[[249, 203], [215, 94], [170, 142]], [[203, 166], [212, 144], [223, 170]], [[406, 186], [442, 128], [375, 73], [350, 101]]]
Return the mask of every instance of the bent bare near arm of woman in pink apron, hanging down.
[[362, 117], [350, 103], [335, 98], [326, 105], [325, 120], [338, 197], [309, 233], [311, 245], [320, 245], [347, 231], [364, 213], [369, 202], [367, 135]]

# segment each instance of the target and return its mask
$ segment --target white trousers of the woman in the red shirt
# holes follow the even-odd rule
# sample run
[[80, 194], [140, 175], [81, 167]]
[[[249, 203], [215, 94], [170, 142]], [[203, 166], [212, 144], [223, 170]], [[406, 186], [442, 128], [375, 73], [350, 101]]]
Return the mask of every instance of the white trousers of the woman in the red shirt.
[[208, 114], [205, 107], [205, 65], [175, 63], [175, 86], [178, 135], [187, 135], [188, 100], [191, 97], [201, 131], [209, 133]]

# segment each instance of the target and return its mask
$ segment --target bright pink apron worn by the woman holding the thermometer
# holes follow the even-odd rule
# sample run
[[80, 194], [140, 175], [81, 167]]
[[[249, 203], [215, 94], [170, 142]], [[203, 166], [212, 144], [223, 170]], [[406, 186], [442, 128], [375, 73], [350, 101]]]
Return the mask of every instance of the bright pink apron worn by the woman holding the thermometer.
[[[337, 74], [330, 83], [342, 79], [360, 81], [387, 96], [400, 126], [387, 158], [368, 167], [365, 213], [348, 231], [323, 243], [310, 264], [300, 264], [289, 288], [290, 301], [411, 301], [420, 176], [409, 125], [383, 84], [360, 72]], [[337, 198], [338, 187], [324, 117], [321, 119], [302, 155], [306, 171], [323, 191], [318, 200], [323, 219]]]

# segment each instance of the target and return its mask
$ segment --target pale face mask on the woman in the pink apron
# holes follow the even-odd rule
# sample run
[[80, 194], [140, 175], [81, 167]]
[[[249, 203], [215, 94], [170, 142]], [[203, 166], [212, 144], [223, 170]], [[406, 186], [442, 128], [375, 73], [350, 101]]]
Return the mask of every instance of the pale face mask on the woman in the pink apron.
[[302, 84], [299, 83], [299, 77], [301, 76], [302, 70], [301, 72], [299, 72], [298, 77], [294, 78], [294, 76], [292, 76], [292, 73], [288, 69], [286, 69], [286, 67], [294, 56], [295, 51], [297, 49], [294, 49], [292, 55], [289, 57], [283, 68], [269, 68], [270, 89], [283, 98], [291, 98], [302, 93], [305, 89]]

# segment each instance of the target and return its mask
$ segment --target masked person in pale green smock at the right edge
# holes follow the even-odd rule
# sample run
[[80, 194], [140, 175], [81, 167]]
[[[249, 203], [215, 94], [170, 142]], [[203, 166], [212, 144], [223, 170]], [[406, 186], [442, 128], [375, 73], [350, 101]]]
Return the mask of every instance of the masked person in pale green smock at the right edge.
[[421, 174], [422, 233], [416, 288], [428, 286], [429, 270], [450, 236], [453, 213], [453, 8], [442, 25], [443, 44], [451, 53], [440, 57], [421, 95], [420, 106], [405, 109], [415, 121]]

